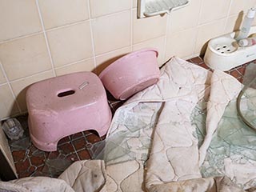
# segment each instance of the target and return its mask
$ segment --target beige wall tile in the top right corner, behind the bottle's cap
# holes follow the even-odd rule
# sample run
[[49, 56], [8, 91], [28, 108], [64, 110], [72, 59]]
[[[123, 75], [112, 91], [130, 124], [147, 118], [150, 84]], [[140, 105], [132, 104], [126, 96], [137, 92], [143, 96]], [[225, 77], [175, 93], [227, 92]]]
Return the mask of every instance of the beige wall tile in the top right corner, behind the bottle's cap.
[[256, 0], [232, 0], [230, 7], [230, 15], [232, 14], [246, 14], [250, 7], [256, 6]]

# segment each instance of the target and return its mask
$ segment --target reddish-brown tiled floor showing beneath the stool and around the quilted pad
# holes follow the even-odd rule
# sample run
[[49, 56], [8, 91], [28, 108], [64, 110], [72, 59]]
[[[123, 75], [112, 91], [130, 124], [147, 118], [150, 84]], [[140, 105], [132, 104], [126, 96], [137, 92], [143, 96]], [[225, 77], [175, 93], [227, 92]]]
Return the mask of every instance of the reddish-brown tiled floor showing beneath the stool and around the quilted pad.
[[[209, 69], [202, 58], [191, 58], [188, 61]], [[227, 73], [233, 75], [242, 82], [246, 65], [247, 64], [238, 66]], [[112, 98], [110, 94], [108, 94], [108, 99], [113, 113], [123, 103]], [[94, 131], [84, 131], [62, 138], [58, 143], [57, 151], [44, 152], [38, 150], [30, 142], [27, 115], [18, 117], [18, 120], [22, 123], [22, 126], [25, 129], [25, 134], [23, 138], [18, 141], [10, 141], [10, 148], [19, 178], [27, 176], [58, 177], [67, 166], [72, 164], [72, 162], [94, 158], [92, 145], [104, 140], [104, 137], [99, 138], [98, 134]]]

